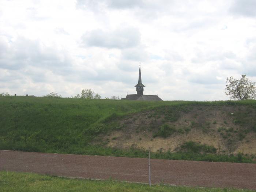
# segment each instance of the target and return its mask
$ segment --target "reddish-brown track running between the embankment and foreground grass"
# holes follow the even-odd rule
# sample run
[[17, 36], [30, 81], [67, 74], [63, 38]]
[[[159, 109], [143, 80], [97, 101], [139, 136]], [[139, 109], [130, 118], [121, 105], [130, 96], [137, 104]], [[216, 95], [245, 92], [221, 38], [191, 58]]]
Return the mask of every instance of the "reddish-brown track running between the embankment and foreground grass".
[[[148, 182], [148, 159], [0, 150], [0, 170]], [[151, 182], [256, 190], [256, 164], [151, 159]]]

